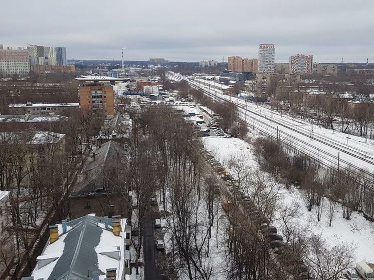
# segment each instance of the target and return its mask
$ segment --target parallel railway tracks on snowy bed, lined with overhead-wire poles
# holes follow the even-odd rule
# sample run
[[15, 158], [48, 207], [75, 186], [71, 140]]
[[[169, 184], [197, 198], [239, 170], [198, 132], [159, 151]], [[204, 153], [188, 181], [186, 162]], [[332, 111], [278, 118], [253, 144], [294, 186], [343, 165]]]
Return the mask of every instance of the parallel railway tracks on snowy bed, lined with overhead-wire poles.
[[[173, 78], [178, 81], [183, 80], [182, 78], [176, 76], [173, 76]], [[189, 80], [186, 81], [190, 86], [195, 89], [202, 90], [204, 94], [208, 95], [215, 101], [229, 101], [236, 104], [239, 109], [239, 117], [248, 125], [256, 127], [256, 129], [261, 133], [277, 139], [286, 146], [292, 147], [301, 153], [311, 156], [322, 165], [329, 168], [339, 171], [346, 171], [349, 174], [354, 173], [356, 175], [363, 175], [366, 183], [369, 184], [368, 186], [365, 185], [365, 187], [368, 187], [370, 190], [374, 191], [374, 158], [372, 155], [365, 155], [365, 157], [363, 157], [363, 155], [360, 155], [359, 152], [349, 149], [340, 142], [334, 141], [328, 136], [321, 135], [320, 133], [315, 133], [313, 135], [311, 132], [301, 129], [297, 125], [294, 127], [292, 124], [290, 125], [286, 121], [270, 118], [270, 116], [262, 114], [264, 111], [269, 111], [268, 109], [262, 111], [251, 110], [248, 108], [248, 106], [243, 104], [243, 102], [238, 102], [237, 98], [231, 97], [231, 100], [228, 100], [229, 98], [227, 95], [221, 93], [218, 94], [217, 92], [212, 93], [206, 88], [196, 85], [194, 82]], [[234, 102], [235, 100], [237, 102]], [[292, 132], [296, 133], [297, 136], [293, 135]], [[311, 143], [306, 141], [305, 138], [309, 138], [311, 141], [317, 142], [318, 145], [311, 145]], [[331, 150], [335, 152], [332, 152]], [[356, 162], [354, 162], [353, 159], [355, 159]]]

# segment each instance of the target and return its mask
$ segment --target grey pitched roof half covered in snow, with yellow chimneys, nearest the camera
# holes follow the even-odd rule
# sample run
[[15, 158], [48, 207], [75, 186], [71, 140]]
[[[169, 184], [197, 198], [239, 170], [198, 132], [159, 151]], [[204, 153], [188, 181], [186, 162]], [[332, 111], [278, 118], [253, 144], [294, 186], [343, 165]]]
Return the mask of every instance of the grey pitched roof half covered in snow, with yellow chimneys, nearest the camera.
[[113, 234], [112, 219], [107, 219], [107, 228], [105, 218], [93, 215], [68, 221], [66, 233], [58, 224], [59, 239], [52, 244], [48, 240], [38, 256], [32, 272], [34, 279], [93, 279], [97, 273], [102, 280], [108, 268], [116, 268], [115, 279], [123, 279], [124, 267], [130, 259], [124, 240], [127, 219], [120, 219], [120, 236]]

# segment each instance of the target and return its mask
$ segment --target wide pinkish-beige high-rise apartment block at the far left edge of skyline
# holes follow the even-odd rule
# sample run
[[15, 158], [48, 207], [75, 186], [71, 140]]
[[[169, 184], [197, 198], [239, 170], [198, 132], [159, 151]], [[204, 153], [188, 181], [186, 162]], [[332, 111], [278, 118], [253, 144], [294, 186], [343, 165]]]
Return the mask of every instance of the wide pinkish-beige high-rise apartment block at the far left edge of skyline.
[[0, 75], [27, 75], [30, 72], [29, 52], [22, 48], [13, 50], [0, 45]]

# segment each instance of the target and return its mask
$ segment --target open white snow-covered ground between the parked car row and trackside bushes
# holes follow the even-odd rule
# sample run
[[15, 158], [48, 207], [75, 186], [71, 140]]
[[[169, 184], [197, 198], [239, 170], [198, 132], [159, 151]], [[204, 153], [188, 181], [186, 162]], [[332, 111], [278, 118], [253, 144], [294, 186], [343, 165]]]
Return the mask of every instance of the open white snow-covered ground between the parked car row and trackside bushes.
[[[262, 172], [253, 153], [253, 148], [247, 142], [237, 138], [206, 137], [203, 139], [205, 147], [210, 150], [225, 166], [233, 155], [245, 160], [246, 165], [252, 169], [253, 174]], [[270, 176], [270, 175], [269, 175]], [[332, 226], [328, 225], [328, 202], [325, 201], [321, 221], [317, 222], [316, 214], [307, 208], [302, 199], [302, 190], [291, 187], [289, 190], [279, 184], [279, 198], [283, 205], [298, 205], [298, 222], [301, 227], [307, 227], [309, 233], [320, 234], [329, 243], [353, 242], [356, 245], [356, 261], [365, 260], [374, 262], [374, 225], [365, 220], [361, 213], [353, 212], [350, 220], [342, 218], [342, 209], [336, 205], [335, 218]], [[275, 221], [274, 225], [279, 227], [280, 221]]]

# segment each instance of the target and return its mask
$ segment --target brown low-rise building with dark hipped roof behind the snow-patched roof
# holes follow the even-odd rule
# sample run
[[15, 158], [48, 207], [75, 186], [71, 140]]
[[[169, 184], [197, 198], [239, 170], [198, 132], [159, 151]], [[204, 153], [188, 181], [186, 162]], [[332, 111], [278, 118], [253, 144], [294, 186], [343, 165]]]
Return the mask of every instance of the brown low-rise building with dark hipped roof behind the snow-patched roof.
[[70, 216], [128, 215], [127, 186], [123, 180], [126, 152], [109, 140], [93, 149], [69, 195]]

